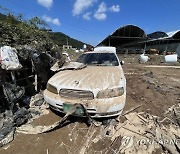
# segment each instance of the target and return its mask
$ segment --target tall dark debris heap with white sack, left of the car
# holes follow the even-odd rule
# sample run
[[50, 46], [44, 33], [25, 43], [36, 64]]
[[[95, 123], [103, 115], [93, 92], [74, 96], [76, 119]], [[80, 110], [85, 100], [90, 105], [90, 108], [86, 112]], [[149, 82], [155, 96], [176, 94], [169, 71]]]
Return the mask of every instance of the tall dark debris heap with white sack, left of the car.
[[28, 46], [0, 48], [0, 146], [13, 140], [16, 127], [47, 114], [41, 91], [55, 61]]

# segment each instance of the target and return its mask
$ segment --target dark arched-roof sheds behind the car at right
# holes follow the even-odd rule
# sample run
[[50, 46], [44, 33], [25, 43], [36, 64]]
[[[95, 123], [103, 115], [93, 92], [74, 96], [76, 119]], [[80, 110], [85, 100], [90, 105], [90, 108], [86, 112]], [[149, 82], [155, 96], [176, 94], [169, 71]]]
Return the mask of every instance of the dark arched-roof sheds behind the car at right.
[[173, 32], [157, 31], [146, 34], [143, 29], [135, 25], [126, 25], [116, 29], [97, 46], [114, 46], [118, 53], [137, 53], [137, 51], [157, 49], [175, 51], [180, 57], [180, 30]]

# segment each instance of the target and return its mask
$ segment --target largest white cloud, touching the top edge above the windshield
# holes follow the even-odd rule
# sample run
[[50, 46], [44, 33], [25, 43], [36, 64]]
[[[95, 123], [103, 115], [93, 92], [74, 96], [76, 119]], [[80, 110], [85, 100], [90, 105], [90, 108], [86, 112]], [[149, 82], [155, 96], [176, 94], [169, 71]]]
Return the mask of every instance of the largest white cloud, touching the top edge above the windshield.
[[73, 16], [77, 16], [81, 14], [84, 10], [93, 6], [93, 4], [97, 2], [97, 0], [76, 0], [73, 7]]

